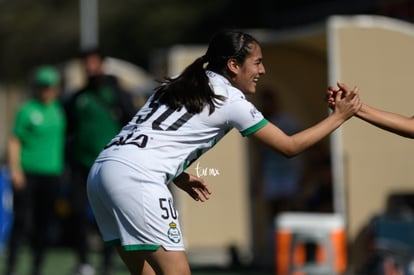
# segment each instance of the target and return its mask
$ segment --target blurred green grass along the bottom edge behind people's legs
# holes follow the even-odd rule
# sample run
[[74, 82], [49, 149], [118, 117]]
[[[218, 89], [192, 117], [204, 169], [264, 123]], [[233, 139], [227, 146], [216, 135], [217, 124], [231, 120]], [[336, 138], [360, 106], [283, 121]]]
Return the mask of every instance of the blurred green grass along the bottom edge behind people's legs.
[[[16, 275], [30, 275], [31, 255], [27, 248], [22, 248], [19, 254], [18, 268]], [[6, 261], [5, 253], [0, 255], [0, 274], [4, 274], [4, 265]], [[99, 254], [92, 253], [91, 260], [94, 267], [97, 269], [96, 275], [101, 275], [99, 272]], [[52, 248], [45, 257], [45, 263], [42, 275], [72, 275], [76, 264], [75, 254], [68, 248]], [[193, 275], [273, 275], [252, 269], [229, 270], [226, 268], [219, 268], [213, 266], [192, 266]], [[119, 259], [118, 255], [114, 255], [114, 266], [111, 275], [129, 275], [125, 266]]]

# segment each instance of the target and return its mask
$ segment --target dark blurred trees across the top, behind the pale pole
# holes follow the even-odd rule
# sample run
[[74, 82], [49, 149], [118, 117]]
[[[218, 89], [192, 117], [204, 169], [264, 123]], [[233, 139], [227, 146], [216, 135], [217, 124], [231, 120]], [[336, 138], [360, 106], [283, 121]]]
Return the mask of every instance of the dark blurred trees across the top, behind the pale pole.
[[[0, 83], [25, 80], [38, 64], [76, 57], [81, 2], [0, 1]], [[409, 0], [96, 2], [99, 45], [146, 70], [155, 50], [177, 43], [205, 44], [224, 27], [280, 30], [321, 22], [332, 14], [380, 14], [411, 22], [414, 13]]]

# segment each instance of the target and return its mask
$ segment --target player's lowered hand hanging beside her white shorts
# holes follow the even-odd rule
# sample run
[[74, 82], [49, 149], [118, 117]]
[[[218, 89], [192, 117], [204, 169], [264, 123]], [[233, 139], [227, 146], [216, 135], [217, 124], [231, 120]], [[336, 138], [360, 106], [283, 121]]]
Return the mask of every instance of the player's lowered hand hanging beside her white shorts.
[[174, 184], [187, 192], [195, 201], [205, 202], [210, 198], [210, 188], [202, 178], [197, 176], [183, 172], [174, 179]]

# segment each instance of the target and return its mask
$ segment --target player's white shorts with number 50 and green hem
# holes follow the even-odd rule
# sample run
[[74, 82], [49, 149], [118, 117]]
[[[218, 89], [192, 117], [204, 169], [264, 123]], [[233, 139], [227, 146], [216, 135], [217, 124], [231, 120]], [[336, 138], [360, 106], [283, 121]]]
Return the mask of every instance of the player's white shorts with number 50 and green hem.
[[89, 202], [105, 243], [125, 250], [184, 250], [178, 212], [168, 187], [146, 182], [114, 160], [95, 163], [88, 177]]

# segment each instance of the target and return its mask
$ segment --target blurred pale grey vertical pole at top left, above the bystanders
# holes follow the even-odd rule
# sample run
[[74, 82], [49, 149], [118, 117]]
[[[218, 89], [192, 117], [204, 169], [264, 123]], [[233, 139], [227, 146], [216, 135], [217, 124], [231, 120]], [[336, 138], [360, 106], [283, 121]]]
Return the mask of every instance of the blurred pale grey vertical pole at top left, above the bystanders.
[[80, 48], [98, 46], [98, 0], [80, 1]]

